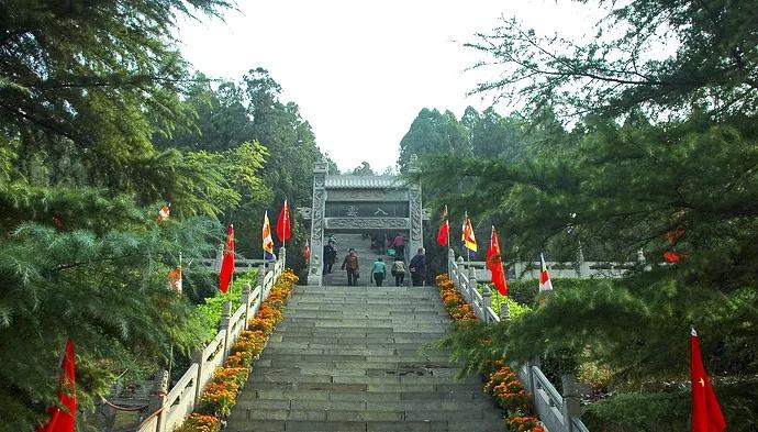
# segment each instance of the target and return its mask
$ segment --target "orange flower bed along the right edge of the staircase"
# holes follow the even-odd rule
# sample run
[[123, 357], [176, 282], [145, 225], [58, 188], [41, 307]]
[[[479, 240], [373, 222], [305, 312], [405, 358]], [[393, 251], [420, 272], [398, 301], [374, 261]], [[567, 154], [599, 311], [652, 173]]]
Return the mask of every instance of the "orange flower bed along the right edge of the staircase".
[[[455, 284], [446, 274], [436, 278], [439, 297], [450, 317], [456, 321], [475, 321], [477, 317], [471, 306], [455, 288]], [[488, 343], [482, 341], [482, 343]], [[489, 342], [491, 343], [491, 342]], [[503, 419], [505, 428], [511, 432], [545, 432], [539, 419], [532, 414], [531, 396], [519, 381], [519, 377], [503, 361], [492, 364], [487, 375], [484, 391], [491, 395], [498, 405], [506, 412]]]

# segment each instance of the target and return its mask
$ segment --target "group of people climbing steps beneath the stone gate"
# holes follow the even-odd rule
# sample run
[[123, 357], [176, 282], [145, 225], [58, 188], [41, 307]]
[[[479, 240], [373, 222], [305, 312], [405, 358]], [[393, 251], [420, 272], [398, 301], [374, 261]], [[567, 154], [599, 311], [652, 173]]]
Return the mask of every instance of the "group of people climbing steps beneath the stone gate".
[[[405, 239], [402, 234], [398, 234], [392, 240], [390, 245], [394, 251], [394, 261], [390, 267], [390, 274], [394, 277], [394, 286], [400, 287], [405, 280], [405, 274], [411, 274], [411, 281], [414, 287], [424, 285], [426, 279], [426, 258], [424, 256], [424, 248], [420, 247], [416, 251], [416, 255], [409, 263], [408, 269], [405, 268]], [[330, 239], [324, 246], [324, 268], [323, 274], [332, 273], [332, 267], [334, 266], [337, 258], [336, 242], [334, 239]], [[358, 254], [355, 248], [352, 248], [345, 255], [341, 268], [347, 272], [347, 286], [357, 285], [357, 280], [360, 277], [360, 266], [358, 264]], [[377, 257], [377, 261], [371, 266], [371, 272], [369, 276], [370, 283], [376, 283], [377, 287], [381, 287], [387, 279], [387, 264], [381, 256]]]

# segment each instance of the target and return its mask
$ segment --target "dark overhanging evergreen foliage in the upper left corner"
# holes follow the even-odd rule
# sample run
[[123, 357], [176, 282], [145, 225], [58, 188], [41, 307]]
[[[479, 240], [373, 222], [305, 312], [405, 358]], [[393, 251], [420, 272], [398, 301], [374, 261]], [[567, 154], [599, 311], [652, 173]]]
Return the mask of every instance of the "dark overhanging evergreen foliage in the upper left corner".
[[[32, 155], [52, 160], [55, 180], [67, 175], [63, 156], [74, 152], [90, 182], [114, 185], [122, 169], [154, 152], [151, 136], [157, 128], [170, 130], [187, 115], [175, 110], [189, 82], [174, 44], [177, 20], [219, 15], [230, 4], [3, 1], [3, 141], [16, 146], [24, 162]], [[149, 121], [148, 111], [159, 120]]]

